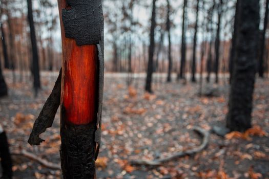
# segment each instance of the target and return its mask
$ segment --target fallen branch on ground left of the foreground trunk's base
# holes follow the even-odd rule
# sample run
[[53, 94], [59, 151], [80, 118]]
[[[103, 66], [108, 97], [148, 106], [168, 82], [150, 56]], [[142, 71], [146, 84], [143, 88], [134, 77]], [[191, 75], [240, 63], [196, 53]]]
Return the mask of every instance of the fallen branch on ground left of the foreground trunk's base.
[[13, 151], [13, 152], [11, 152], [11, 154], [12, 155], [25, 156], [28, 159], [36, 161], [36, 162], [40, 163], [41, 165], [43, 165], [43, 166], [45, 166], [47, 168], [50, 168], [50, 169], [54, 169], [54, 170], [60, 170], [61, 169], [59, 164], [54, 164], [54, 163], [48, 162], [47, 160], [41, 159], [38, 156], [36, 156], [35, 154], [30, 153], [30, 152], [28, 152], [26, 150]]

